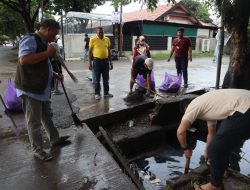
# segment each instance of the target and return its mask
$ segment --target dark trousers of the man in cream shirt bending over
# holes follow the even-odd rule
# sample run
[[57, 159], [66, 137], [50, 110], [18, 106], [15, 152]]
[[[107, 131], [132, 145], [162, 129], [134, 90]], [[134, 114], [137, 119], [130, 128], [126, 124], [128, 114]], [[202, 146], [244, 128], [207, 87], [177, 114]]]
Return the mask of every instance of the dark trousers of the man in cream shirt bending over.
[[222, 121], [214, 139], [208, 146], [211, 183], [215, 187], [221, 186], [231, 152], [242, 141], [250, 138], [249, 123], [250, 109], [245, 114], [235, 112]]

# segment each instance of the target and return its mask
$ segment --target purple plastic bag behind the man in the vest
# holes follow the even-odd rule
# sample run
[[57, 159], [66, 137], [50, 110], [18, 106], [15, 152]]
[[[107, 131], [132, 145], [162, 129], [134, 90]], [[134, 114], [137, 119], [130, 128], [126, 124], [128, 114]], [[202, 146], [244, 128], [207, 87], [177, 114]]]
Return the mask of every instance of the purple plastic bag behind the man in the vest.
[[11, 112], [22, 111], [22, 100], [20, 97], [17, 97], [16, 88], [14, 87], [11, 79], [8, 79], [6, 86], [5, 95], [3, 97], [4, 103], [7, 109]]

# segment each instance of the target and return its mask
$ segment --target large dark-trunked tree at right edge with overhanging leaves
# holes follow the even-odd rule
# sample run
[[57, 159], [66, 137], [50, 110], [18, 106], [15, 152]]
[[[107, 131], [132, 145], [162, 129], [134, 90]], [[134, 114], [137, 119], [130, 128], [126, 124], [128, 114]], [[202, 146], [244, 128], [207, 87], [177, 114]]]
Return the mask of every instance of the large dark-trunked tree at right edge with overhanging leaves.
[[[136, 0], [146, 2], [153, 9], [159, 0]], [[168, 2], [172, 0], [167, 0]], [[174, 0], [173, 0], [174, 1]], [[172, 1], [172, 2], [173, 2]], [[225, 27], [231, 33], [231, 52], [229, 67], [223, 88], [242, 88], [250, 90], [250, 53], [248, 50], [248, 23], [250, 17], [249, 0], [202, 0], [207, 5], [215, 6], [221, 15], [225, 15]], [[222, 3], [224, 4], [222, 6]], [[223, 9], [222, 9], [223, 8]]]

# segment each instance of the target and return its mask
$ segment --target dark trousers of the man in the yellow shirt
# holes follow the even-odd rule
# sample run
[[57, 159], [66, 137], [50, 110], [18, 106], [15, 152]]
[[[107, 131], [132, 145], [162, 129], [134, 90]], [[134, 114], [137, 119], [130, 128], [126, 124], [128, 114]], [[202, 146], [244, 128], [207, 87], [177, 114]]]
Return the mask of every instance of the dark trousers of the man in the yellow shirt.
[[95, 94], [100, 95], [100, 80], [102, 76], [104, 94], [109, 93], [109, 60], [96, 59], [93, 60], [94, 75], [95, 75]]

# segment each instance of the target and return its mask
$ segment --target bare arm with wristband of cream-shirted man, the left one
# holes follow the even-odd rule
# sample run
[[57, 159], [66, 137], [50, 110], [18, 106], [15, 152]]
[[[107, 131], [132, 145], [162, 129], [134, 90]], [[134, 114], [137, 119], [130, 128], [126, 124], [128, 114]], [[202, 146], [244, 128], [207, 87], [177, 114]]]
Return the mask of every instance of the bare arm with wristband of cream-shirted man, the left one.
[[181, 148], [183, 149], [186, 158], [190, 158], [192, 156], [192, 150], [188, 149], [187, 139], [186, 139], [187, 129], [190, 126], [191, 126], [190, 121], [181, 120], [181, 123], [177, 130], [177, 138], [178, 138], [178, 141], [180, 142]]

